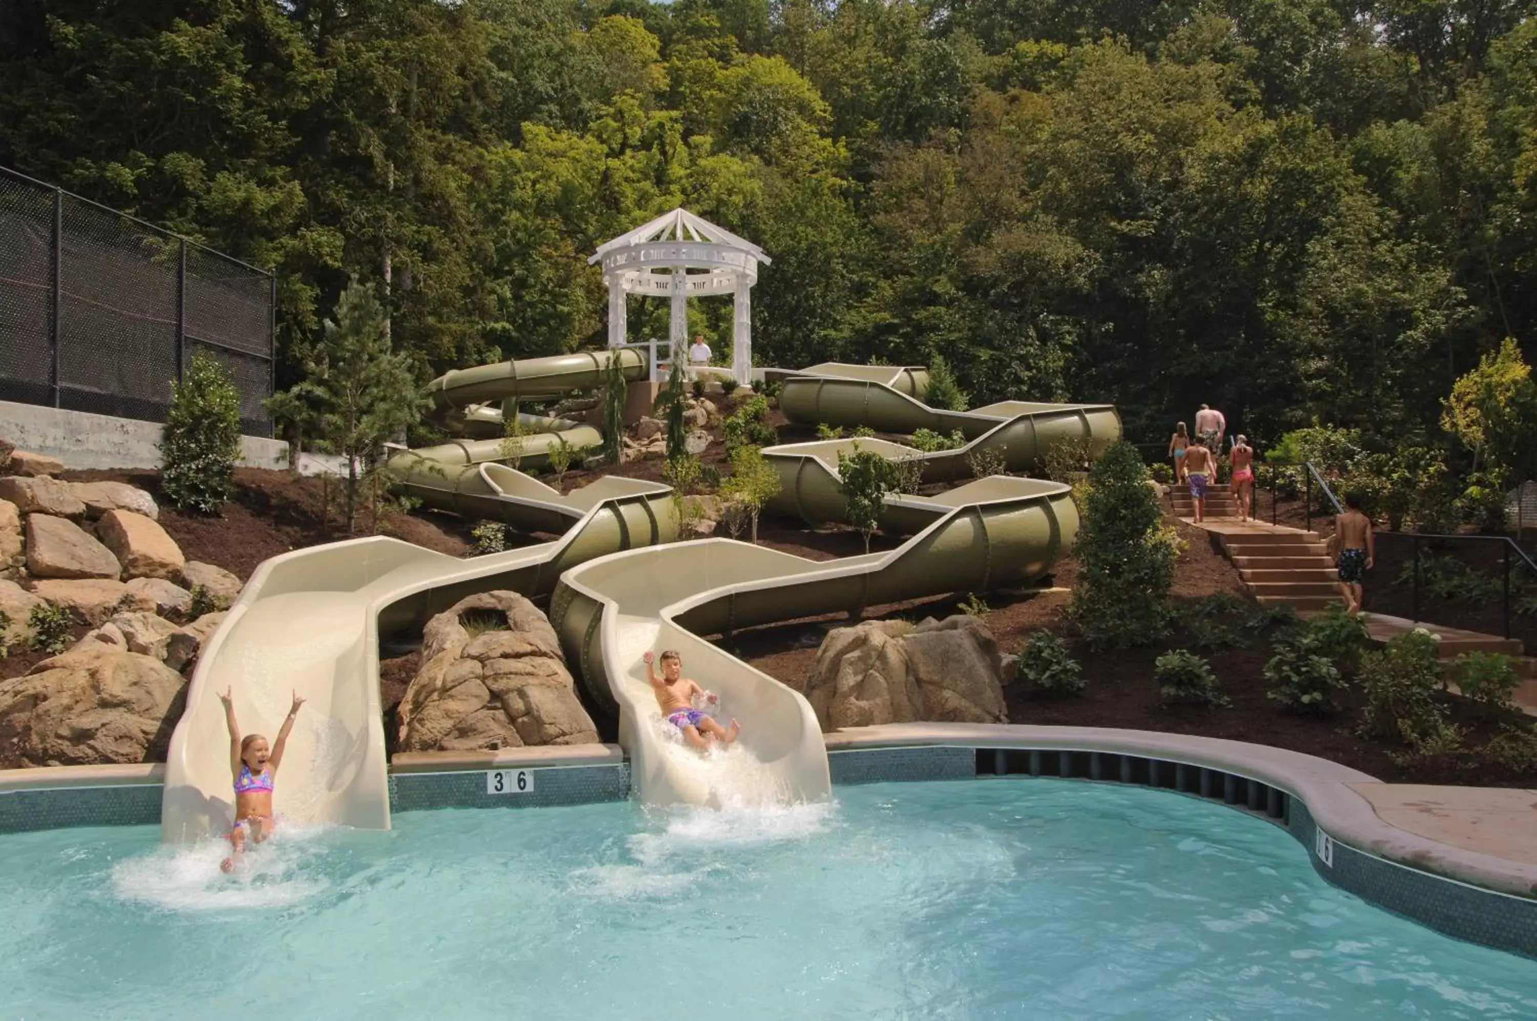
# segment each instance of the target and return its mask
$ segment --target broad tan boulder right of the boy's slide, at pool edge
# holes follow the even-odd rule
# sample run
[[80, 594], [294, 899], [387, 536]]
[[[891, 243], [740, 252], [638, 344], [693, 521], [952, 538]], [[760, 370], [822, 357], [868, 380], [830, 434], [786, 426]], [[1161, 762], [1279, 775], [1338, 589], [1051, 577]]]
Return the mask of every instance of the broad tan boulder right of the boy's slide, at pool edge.
[[865, 621], [822, 641], [805, 698], [822, 730], [882, 723], [1004, 723], [1004, 664], [974, 617]]

